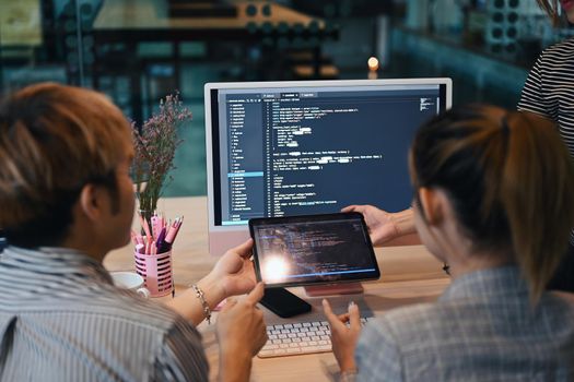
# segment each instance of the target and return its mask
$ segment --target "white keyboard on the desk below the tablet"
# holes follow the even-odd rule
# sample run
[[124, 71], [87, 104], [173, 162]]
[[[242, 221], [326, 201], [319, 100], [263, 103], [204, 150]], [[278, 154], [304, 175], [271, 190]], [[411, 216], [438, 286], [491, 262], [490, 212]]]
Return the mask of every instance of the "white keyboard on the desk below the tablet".
[[[364, 325], [370, 318], [361, 318]], [[297, 356], [331, 351], [331, 337], [327, 321], [298, 322], [267, 326], [267, 344], [259, 358]]]

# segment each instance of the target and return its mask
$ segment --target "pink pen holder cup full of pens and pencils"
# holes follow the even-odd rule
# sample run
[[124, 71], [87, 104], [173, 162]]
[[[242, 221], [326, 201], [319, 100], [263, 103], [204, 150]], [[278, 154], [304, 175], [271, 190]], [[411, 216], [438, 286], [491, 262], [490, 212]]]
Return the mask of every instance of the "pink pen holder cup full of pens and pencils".
[[151, 297], [169, 295], [174, 290], [172, 251], [159, 254], [134, 252], [136, 271], [145, 280]]

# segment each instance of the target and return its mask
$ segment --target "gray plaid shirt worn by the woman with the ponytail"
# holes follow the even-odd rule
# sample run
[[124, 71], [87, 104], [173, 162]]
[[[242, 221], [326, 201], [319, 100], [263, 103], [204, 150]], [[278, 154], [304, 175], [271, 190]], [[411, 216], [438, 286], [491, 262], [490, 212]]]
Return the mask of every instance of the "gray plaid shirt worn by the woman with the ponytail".
[[515, 266], [477, 271], [370, 322], [355, 358], [360, 381], [573, 381], [574, 306], [534, 308]]

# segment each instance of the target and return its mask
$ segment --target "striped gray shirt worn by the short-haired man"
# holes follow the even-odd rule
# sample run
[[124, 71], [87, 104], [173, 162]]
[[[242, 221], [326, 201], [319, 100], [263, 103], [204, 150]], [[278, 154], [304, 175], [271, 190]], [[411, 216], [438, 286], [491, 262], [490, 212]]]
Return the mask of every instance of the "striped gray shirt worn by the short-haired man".
[[201, 336], [77, 251], [0, 255], [1, 381], [206, 381]]

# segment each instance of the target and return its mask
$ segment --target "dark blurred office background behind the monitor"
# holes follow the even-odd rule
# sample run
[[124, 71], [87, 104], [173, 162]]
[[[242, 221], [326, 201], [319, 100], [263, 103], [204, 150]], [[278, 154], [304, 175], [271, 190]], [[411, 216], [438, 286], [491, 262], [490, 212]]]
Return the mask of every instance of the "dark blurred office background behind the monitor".
[[[0, 94], [43, 81], [96, 88], [140, 123], [178, 91], [194, 117], [165, 194], [201, 195], [206, 82], [366, 79], [376, 57], [378, 77], [449, 76], [455, 105], [515, 108], [541, 49], [572, 34], [552, 28], [534, 0], [241, 3], [0, 0]], [[150, 16], [118, 16], [136, 11]], [[185, 28], [207, 17], [209, 28]], [[231, 19], [239, 31], [225, 26]]]

